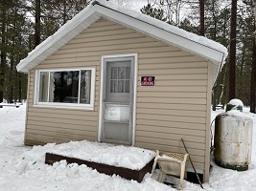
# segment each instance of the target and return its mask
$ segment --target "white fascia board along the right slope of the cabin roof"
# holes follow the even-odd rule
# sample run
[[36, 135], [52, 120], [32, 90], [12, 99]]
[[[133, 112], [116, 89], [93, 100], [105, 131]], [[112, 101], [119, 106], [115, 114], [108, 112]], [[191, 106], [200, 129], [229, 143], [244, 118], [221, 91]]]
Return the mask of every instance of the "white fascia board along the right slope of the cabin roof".
[[[214, 63], [221, 63], [224, 53], [218, 50], [212, 49], [198, 42], [192, 41], [183, 36], [177, 35], [172, 32], [165, 31], [156, 26], [151, 25], [145, 21], [133, 18], [129, 15], [122, 14], [118, 11], [107, 9], [105, 7], [97, 6], [99, 13], [105, 18], [127, 26], [137, 32], [148, 34], [160, 41], [173, 45], [181, 50], [185, 50], [190, 53], [195, 53], [201, 57], [213, 61]], [[219, 65], [218, 64], [218, 65]]]

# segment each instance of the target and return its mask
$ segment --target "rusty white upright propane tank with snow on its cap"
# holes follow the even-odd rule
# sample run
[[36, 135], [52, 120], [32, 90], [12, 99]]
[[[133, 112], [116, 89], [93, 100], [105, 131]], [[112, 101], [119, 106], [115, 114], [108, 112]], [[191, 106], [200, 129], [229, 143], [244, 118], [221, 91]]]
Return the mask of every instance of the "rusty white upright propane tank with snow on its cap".
[[231, 111], [216, 117], [214, 157], [223, 168], [244, 171], [251, 161], [253, 121], [242, 113], [241, 103], [239, 107], [234, 104], [237, 100], [230, 101], [234, 105]]

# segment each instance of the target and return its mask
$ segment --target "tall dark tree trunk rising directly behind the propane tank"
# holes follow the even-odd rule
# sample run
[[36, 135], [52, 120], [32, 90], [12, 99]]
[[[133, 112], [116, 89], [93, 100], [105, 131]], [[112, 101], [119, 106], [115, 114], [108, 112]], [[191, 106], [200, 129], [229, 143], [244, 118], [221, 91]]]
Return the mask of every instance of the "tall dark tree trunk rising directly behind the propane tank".
[[236, 27], [237, 27], [237, 0], [232, 0], [231, 32], [229, 50], [229, 99], [236, 97]]

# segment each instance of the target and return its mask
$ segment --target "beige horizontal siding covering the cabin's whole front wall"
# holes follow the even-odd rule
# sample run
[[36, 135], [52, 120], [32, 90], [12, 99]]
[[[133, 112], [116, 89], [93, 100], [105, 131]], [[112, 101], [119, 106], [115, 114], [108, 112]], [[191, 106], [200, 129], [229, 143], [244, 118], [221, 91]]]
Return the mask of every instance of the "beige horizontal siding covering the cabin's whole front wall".
[[[138, 53], [135, 146], [185, 152], [204, 169], [208, 61], [149, 36], [101, 19], [35, 69], [96, 67], [94, 111], [33, 106], [31, 71], [26, 141], [97, 140], [102, 55]], [[155, 87], [140, 87], [142, 75], [155, 75]], [[208, 127], [207, 127], [208, 128]]]

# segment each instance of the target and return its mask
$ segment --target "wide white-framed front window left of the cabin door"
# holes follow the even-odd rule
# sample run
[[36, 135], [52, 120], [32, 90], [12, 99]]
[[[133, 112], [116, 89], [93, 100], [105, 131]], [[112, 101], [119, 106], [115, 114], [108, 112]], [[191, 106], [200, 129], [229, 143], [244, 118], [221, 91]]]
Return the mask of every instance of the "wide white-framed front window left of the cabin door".
[[95, 69], [36, 71], [36, 105], [93, 107]]

